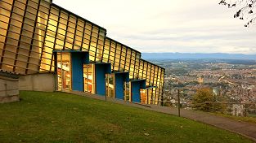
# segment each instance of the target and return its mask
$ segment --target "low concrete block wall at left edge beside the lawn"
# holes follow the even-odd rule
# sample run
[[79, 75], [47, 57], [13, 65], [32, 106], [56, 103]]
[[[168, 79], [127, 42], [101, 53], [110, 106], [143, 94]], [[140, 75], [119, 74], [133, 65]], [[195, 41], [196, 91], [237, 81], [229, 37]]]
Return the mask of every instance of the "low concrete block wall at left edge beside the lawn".
[[19, 101], [19, 80], [0, 76], [0, 103]]

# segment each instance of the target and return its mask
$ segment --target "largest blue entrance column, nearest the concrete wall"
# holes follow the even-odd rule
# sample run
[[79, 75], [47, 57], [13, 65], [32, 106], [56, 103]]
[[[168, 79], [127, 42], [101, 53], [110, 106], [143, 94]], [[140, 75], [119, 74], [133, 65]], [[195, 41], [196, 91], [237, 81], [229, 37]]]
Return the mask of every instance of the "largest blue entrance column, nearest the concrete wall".
[[83, 51], [72, 51], [70, 54], [72, 90], [83, 91], [83, 64], [89, 63], [89, 54]]

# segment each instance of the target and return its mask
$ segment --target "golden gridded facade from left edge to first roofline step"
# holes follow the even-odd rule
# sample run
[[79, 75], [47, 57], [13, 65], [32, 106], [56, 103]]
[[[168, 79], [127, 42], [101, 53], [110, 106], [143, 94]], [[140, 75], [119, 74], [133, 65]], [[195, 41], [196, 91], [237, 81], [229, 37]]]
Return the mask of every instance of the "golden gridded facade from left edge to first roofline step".
[[103, 54], [106, 29], [44, 0], [2, 0], [0, 68], [29, 74], [54, 71], [52, 50]]

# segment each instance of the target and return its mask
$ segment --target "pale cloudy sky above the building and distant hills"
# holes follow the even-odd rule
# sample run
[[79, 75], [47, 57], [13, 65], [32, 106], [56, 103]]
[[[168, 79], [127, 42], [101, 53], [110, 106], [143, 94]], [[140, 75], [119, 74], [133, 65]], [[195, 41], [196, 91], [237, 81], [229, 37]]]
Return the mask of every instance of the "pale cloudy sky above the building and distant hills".
[[53, 0], [143, 52], [256, 54], [256, 26], [220, 0]]

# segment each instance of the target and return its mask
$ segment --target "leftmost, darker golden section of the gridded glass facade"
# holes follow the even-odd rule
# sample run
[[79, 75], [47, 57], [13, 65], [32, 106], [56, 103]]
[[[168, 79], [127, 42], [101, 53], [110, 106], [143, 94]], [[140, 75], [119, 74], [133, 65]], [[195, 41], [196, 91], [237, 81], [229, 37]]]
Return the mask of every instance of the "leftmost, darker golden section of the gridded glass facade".
[[38, 23], [44, 18], [38, 15], [49, 6], [44, 1], [1, 1], [2, 70], [20, 74], [38, 71], [47, 22]]

